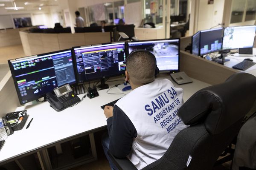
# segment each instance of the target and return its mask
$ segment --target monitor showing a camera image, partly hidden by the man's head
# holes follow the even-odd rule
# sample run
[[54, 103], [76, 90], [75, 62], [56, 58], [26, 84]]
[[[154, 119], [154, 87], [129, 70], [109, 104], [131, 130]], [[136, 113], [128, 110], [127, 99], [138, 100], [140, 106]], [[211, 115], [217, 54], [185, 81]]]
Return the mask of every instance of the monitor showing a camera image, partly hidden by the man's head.
[[137, 49], [145, 49], [154, 54], [159, 71], [180, 71], [180, 39], [128, 42], [128, 54]]

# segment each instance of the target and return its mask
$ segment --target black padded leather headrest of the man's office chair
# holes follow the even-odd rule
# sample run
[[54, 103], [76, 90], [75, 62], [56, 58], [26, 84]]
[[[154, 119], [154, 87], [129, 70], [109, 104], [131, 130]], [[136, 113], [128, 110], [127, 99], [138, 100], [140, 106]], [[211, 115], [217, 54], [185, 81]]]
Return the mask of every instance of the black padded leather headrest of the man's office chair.
[[218, 134], [242, 119], [256, 100], [256, 77], [236, 73], [225, 82], [201, 89], [179, 109], [185, 125], [204, 122], [206, 130]]

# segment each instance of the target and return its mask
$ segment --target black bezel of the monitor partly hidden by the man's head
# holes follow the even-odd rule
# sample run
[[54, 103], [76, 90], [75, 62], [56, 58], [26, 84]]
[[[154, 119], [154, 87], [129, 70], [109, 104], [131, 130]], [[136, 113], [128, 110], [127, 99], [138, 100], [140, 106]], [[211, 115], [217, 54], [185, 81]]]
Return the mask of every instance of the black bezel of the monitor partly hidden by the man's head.
[[[154, 40], [138, 40], [138, 41], [130, 41], [130, 42], [147, 42], [147, 41], [163, 41], [163, 40], [178, 40], [178, 46], [179, 46], [179, 50], [178, 50], [178, 69], [177, 70], [163, 70], [163, 71], [159, 71], [160, 73], [177, 73], [180, 72], [180, 38], [166, 38], [166, 39], [154, 39]], [[129, 42], [127, 42], [126, 45], [126, 54], [125, 56], [129, 55]]]

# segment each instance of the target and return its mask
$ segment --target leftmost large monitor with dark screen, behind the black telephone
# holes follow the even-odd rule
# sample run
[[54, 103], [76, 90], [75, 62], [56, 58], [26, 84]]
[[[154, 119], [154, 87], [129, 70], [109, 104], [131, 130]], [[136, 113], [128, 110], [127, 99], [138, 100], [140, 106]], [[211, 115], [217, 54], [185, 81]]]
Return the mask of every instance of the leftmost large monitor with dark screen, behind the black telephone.
[[76, 83], [71, 49], [8, 60], [20, 104]]

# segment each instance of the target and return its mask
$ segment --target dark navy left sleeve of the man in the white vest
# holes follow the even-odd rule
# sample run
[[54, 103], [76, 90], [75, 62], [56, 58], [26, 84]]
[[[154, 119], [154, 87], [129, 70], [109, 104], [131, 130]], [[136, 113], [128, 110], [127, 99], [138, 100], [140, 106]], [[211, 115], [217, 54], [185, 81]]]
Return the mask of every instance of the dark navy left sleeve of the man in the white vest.
[[109, 150], [117, 158], [125, 158], [131, 151], [137, 130], [128, 116], [115, 105], [113, 117], [107, 119]]

